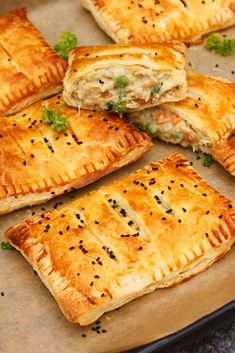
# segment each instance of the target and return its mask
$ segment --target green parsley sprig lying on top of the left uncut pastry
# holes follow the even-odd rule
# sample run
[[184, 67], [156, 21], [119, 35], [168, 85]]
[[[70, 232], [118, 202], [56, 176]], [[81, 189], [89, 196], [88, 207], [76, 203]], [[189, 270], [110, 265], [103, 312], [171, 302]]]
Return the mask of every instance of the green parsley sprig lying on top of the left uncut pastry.
[[60, 104], [55, 109], [48, 109], [46, 102], [42, 102], [42, 118], [43, 122], [50, 124], [51, 128], [56, 132], [66, 130], [69, 126], [66, 116], [59, 113], [60, 108], [64, 106], [64, 103]]

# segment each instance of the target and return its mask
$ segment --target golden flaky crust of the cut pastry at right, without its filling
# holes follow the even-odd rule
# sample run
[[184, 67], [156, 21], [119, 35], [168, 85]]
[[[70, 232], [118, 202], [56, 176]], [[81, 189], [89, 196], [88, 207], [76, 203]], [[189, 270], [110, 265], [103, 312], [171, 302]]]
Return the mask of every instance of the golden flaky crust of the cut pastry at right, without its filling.
[[[176, 120], [177, 117], [181, 118], [192, 132], [197, 133], [198, 141], [196, 143], [193, 139], [190, 140], [190, 136], [187, 141], [165, 139], [161, 133], [162, 124], [152, 136], [183, 146], [191, 145], [194, 149], [210, 153], [228, 172], [235, 175], [235, 83], [193, 71], [187, 72], [187, 81], [186, 99], [161, 104], [158, 107], [150, 108], [149, 112], [143, 110], [142, 121], [148, 114], [154, 117], [159, 111], [173, 114], [173, 121], [175, 114]], [[140, 121], [140, 116], [130, 115], [129, 121], [133, 123]], [[172, 123], [170, 129], [174, 139], [177, 127]]]

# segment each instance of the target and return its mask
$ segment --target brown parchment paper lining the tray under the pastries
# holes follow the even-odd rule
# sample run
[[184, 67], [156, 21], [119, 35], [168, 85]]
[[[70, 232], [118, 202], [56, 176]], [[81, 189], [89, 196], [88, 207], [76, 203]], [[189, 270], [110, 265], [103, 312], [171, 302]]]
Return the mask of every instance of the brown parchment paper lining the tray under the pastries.
[[[111, 42], [98, 28], [78, 0], [0, 0], [0, 14], [26, 6], [30, 19], [45, 38], [54, 44], [60, 33], [77, 33], [80, 45]], [[226, 32], [235, 36], [235, 30]], [[235, 56], [223, 58], [209, 53], [203, 46], [188, 50], [188, 62], [195, 69], [234, 81]], [[219, 67], [215, 68], [216, 64]], [[192, 65], [192, 63], [191, 63]], [[188, 66], [192, 69], [192, 66]], [[97, 189], [101, 185], [129, 174], [145, 164], [183, 152], [200, 174], [223, 194], [235, 200], [235, 179], [219, 164], [201, 165], [190, 149], [156, 141], [154, 149], [139, 161], [106, 176], [73, 195]], [[58, 197], [46, 205], [25, 208], [0, 217], [0, 241], [5, 229], [30, 217], [32, 211], [50, 209], [55, 202], [68, 202], [71, 194]], [[208, 271], [170, 289], [157, 290], [101, 318], [101, 332], [67, 322], [57, 303], [31, 266], [16, 251], [0, 250], [0, 352], [1, 353], [112, 353], [127, 350], [174, 333], [195, 320], [210, 314], [235, 299], [235, 247]], [[82, 337], [86, 334], [86, 337]]]

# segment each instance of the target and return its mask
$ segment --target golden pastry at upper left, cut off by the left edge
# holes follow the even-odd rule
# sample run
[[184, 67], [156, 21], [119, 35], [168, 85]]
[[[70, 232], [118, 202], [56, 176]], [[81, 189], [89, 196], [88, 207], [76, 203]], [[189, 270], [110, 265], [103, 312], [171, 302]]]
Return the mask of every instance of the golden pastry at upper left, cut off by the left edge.
[[0, 116], [62, 91], [66, 67], [28, 20], [26, 9], [0, 17]]

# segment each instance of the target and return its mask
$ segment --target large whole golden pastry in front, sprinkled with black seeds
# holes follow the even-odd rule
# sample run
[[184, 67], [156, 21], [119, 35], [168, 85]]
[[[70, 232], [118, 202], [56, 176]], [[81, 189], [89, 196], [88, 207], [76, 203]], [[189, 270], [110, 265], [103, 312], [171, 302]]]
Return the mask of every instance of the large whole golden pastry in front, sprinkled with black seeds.
[[234, 204], [179, 154], [45, 215], [5, 236], [81, 325], [206, 270], [235, 240]]

